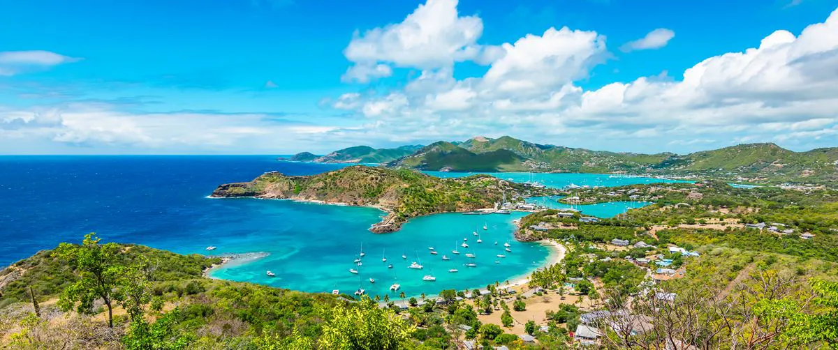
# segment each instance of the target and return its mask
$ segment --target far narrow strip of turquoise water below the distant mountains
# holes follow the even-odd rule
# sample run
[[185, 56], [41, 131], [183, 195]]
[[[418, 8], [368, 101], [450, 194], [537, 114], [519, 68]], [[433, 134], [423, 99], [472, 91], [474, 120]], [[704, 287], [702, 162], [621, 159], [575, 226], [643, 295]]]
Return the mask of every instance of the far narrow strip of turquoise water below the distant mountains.
[[570, 185], [577, 186], [603, 186], [617, 187], [643, 183], [689, 183], [683, 180], [670, 180], [666, 178], [640, 178], [640, 177], [619, 177], [609, 174], [589, 174], [575, 172], [545, 173], [545, 172], [425, 172], [438, 178], [461, 178], [474, 174], [487, 174], [496, 178], [525, 183], [535, 181], [549, 188], [566, 188]]

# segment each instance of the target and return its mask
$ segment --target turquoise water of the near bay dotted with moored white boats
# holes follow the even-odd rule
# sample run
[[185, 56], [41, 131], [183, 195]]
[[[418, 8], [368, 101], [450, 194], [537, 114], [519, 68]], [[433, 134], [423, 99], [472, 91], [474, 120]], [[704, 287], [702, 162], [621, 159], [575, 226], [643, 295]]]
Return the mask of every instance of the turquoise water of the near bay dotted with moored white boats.
[[[301, 291], [339, 289], [347, 294], [362, 286], [371, 296], [389, 294], [395, 298], [401, 291], [405, 291], [407, 296], [432, 295], [443, 289], [462, 291], [484, 287], [494, 281], [504, 283], [543, 265], [549, 257], [545, 246], [522, 243], [513, 238], [515, 226], [512, 220], [522, 217], [522, 213], [436, 214], [412, 219], [396, 233], [372, 234], [367, 228], [381, 214], [375, 209], [289, 201], [234, 200], [268, 202], [258, 205], [261, 216], [265, 218], [304, 215], [308, 219], [292, 227], [267, 225], [240, 241], [219, 243], [220, 252], [245, 253], [259, 247], [259, 250], [271, 255], [246, 265], [230, 265], [214, 270], [211, 275], [215, 278]], [[486, 230], [483, 229], [484, 224]], [[480, 234], [483, 243], [477, 243], [478, 236], [473, 235], [474, 231]], [[282, 243], [293, 241], [300, 232], [316, 233], [316, 236], [312, 235], [316, 239], [307, 239], [303, 247]], [[468, 239], [468, 249], [459, 245], [463, 239]], [[505, 242], [511, 245], [511, 252], [504, 251]], [[356, 266], [354, 259], [362, 245], [366, 255], [362, 259], [363, 265]], [[428, 247], [437, 250], [438, 255], [430, 254]], [[454, 248], [460, 252], [459, 255], [452, 253]], [[467, 253], [474, 254], [475, 258], [466, 257]], [[402, 254], [407, 259], [402, 259]], [[506, 257], [499, 258], [496, 256], [499, 254]], [[442, 255], [451, 260], [442, 260]], [[386, 257], [387, 261], [382, 262], [382, 257]], [[499, 260], [499, 264], [495, 260]], [[413, 261], [422, 264], [424, 269], [407, 268]], [[464, 266], [467, 262], [473, 262], [477, 267]], [[393, 265], [392, 269], [387, 267], [389, 264]], [[357, 269], [359, 274], [354, 275], [349, 269]], [[458, 272], [450, 273], [449, 269], [457, 269]], [[277, 276], [266, 275], [266, 270], [275, 272]], [[424, 275], [434, 275], [437, 281], [422, 281]], [[370, 283], [370, 278], [375, 279], [374, 284]], [[401, 285], [396, 293], [389, 291], [393, 283]]]

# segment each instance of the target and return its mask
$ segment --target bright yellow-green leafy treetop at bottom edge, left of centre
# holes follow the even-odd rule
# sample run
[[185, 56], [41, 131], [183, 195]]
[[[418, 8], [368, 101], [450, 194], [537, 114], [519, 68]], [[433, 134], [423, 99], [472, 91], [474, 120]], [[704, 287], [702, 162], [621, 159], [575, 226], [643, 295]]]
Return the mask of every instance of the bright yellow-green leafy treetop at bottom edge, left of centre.
[[380, 308], [369, 296], [353, 304], [339, 304], [324, 311], [323, 335], [319, 345], [325, 349], [400, 349], [415, 331], [395, 312]]

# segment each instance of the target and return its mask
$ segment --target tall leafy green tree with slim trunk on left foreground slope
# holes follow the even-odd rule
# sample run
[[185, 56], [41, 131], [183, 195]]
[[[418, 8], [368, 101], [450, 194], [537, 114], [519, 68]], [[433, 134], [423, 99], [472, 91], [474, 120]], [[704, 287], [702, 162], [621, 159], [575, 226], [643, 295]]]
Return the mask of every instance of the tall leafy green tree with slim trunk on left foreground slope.
[[113, 327], [113, 290], [122, 275], [122, 268], [116, 265], [116, 253], [119, 246], [113, 243], [99, 244], [101, 239], [95, 233], [86, 234], [81, 245], [62, 243], [56, 249], [56, 255], [69, 260], [79, 281], [68, 286], [59, 297], [61, 311], [74, 310], [79, 313], [93, 314], [96, 299], [101, 299], [107, 306], [108, 327]]

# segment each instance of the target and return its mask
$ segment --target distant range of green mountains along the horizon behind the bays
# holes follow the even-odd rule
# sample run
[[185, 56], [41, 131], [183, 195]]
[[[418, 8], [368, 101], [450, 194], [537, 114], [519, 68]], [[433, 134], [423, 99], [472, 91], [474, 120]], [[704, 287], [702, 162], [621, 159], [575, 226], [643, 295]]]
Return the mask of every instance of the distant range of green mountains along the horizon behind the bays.
[[678, 155], [592, 151], [541, 145], [510, 136], [473, 137], [428, 146], [357, 146], [297, 162], [378, 163], [385, 167], [452, 172], [598, 172], [676, 177], [725, 178], [753, 183], [838, 181], [838, 147], [793, 152], [773, 143], [752, 143]]

